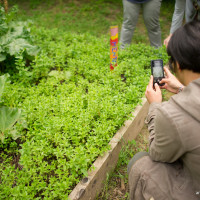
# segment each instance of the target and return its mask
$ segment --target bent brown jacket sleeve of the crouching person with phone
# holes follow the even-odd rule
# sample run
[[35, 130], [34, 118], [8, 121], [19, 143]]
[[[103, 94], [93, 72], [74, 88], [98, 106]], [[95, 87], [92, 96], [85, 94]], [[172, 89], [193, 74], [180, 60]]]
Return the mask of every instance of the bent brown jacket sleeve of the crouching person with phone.
[[150, 105], [146, 120], [149, 129], [149, 154], [152, 160], [172, 163], [184, 153], [175, 120], [163, 104]]

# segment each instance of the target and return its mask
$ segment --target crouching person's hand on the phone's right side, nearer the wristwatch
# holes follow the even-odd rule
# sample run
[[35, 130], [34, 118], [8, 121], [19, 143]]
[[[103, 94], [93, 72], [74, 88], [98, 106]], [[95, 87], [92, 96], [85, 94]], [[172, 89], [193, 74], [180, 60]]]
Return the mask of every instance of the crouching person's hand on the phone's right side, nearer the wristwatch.
[[181, 82], [167, 69], [164, 67], [165, 78], [163, 78], [160, 83], [165, 83], [164, 86], [160, 86], [161, 89], [166, 89], [172, 93], [177, 94], [179, 89], [184, 87]]

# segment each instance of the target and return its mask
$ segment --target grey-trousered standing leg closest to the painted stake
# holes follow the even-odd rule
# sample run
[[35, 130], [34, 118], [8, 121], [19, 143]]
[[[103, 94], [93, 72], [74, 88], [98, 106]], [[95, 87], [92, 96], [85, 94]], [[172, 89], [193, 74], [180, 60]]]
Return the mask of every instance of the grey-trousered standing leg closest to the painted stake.
[[121, 30], [121, 48], [125, 48], [125, 45], [131, 43], [134, 29], [136, 27], [138, 16], [140, 12], [141, 4], [131, 3], [127, 0], [123, 0], [124, 19]]

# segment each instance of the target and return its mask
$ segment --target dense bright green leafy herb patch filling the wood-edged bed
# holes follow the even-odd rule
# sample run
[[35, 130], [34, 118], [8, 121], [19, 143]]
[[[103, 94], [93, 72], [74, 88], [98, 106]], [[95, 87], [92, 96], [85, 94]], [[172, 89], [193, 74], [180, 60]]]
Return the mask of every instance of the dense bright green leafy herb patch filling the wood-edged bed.
[[[63, 5], [64, 1], [60, 2], [59, 6]], [[85, 6], [83, 11], [90, 13], [87, 2], [80, 8]], [[51, 11], [58, 8], [44, 5]], [[27, 5], [22, 1], [22, 6]], [[84, 33], [80, 25], [75, 33], [74, 26], [69, 31], [67, 26], [47, 27], [55, 23], [45, 22], [45, 12], [39, 18], [43, 8], [39, 2], [32, 6], [30, 18], [35, 18], [36, 25], [41, 21], [39, 27], [31, 27], [40, 52], [30, 63], [16, 57], [12, 70], [1, 72], [10, 73], [1, 103], [20, 108], [22, 116], [16, 123], [21, 137], [8, 137], [0, 144], [0, 197], [67, 199], [92, 162], [109, 149], [108, 142], [140, 102], [149, 80], [150, 60], [162, 58], [166, 63], [167, 55], [165, 48], [134, 44], [119, 52], [119, 65], [110, 72], [109, 35], [97, 37], [101, 28]], [[21, 13], [21, 19], [27, 18], [28, 11]], [[101, 11], [98, 16], [106, 15]], [[104, 30], [108, 32], [108, 28]]]

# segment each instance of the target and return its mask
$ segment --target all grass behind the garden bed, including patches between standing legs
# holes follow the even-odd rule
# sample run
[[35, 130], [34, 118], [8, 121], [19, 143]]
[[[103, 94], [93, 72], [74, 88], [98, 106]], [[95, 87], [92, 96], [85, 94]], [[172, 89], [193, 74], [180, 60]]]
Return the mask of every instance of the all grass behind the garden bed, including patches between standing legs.
[[[119, 26], [119, 36], [123, 21], [123, 5], [121, 0], [13, 0], [11, 5], [19, 7], [19, 18], [34, 21], [37, 26], [58, 28], [74, 33], [89, 32], [100, 36], [109, 33], [111, 25]], [[162, 40], [169, 34], [174, 1], [163, 1], [160, 24]], [[140, 14], [133, 36], [133, 43], [149, 44], [147, 31]]]

